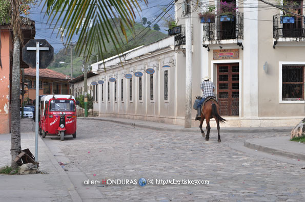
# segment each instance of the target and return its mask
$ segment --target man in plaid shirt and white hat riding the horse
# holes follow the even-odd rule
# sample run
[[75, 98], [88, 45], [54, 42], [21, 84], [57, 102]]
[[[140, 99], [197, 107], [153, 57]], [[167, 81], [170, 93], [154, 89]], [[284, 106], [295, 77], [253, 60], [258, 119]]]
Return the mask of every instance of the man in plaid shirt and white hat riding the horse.
[[202, 99], [200, 100], [200, 102], [197, 105], [197, 116], [195, 118], [195, 120], [200, 120], [201, 119], [201, 105], [202, 103], [205, 102], [206, 98], [209, 96], [214, 96], [213, 92], [215, 90], [215, 85], [212, 81], [210, 81], [210, 77], [209, 76], [205, 76], [204, 77], [204, 81], [201, 82], [200, 84], [200, 89], [202, 91]]

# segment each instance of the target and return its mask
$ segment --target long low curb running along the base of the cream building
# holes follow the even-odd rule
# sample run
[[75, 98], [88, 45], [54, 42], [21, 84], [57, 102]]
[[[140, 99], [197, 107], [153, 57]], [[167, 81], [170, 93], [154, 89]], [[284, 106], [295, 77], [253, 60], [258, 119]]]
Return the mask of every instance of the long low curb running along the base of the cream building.
[[[103, 118], [90, 118], [90, 117], [78, 117], [77, 119], [83, 119], [83, 120], [94, 120], [94, 121], [105, 121], [105, 122], [112, 122], [112, 123], [118, 123], [118, 124], [125, 124], [130, 125], [133, 127], [140, 127], [140, 128], [148, 128], [153, 130], [159, 130], [159, 131], [169, 131], [169, 132], [200, 132], [199, 127], [194, 128], [173, 128], [173, 127], [182, 127], [181, 125], [172, 125], [172, 128], [165, 128], [165, 127], [158, 127], [158, 126], [152, 126], [152, 125], [144, 125], [144, 124], [138, 124], [135, 122], [127, 122], [127, 121], [117, 121], [112, 119], [103, 119]], [[148, 124], [150, 122], [147, 122]], [[156, 122], [157, 124], [157, 122]], [[258, 132], [291, 132], [292, 127], [280, 127], [280, 128], [266, 128], [266, 127], [250, 127], [250, 128], [226, 128], [222, 127], [220, 128], [221, 132], [226, 133], [258, 133]], [[211, 131], [217, 132], [216, 128], [211, 128]]]

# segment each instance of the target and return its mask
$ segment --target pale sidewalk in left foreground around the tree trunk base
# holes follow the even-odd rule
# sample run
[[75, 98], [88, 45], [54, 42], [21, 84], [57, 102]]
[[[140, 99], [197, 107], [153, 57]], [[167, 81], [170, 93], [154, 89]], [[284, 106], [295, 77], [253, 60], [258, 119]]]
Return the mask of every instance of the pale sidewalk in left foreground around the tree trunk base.
[[[21, 134], [22, 149], [35, 153], [35, 133]], [[0, 167], [10, 165], [10, 134], [0, 135]], [[44, 174], [0, 174], [0, 201], [81, 201], [53, 154], [38, 137], [39, 170]]]

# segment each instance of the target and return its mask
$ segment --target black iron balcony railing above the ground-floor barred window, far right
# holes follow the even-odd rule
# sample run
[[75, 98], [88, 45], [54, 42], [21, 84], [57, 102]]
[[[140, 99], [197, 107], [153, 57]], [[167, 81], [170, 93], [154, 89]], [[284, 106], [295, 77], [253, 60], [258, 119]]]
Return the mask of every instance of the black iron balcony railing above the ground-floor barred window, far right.
[[304, 22], [303, 17], [273, 15], [273, 38], [289, 37], [295, 40], [304, 38]]

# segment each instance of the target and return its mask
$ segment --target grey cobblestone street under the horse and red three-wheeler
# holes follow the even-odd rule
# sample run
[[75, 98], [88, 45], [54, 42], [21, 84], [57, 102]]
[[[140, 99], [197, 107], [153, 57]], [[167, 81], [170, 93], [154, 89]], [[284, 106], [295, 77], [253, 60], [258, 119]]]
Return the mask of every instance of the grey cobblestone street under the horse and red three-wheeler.
[[[220, 128], [221, 131], [221, 128]], [[77, 138], [52, 141], [90, 179], [154, 179], [154, 185], [95, 185], [108, 201], [303, 201], [304, 170], [294, 164], [257, 158], [229, 147], [246, 139], [284, 133], [210, 134], [162, 132], [109, 122], [77, 121]], [[47, 137], [48, 138], [48, 137]], [[58, 141], [58, 142], [57, 142]], [[54, 145], [55, 145], [54, 144]], [[297, 161], [297, 160], [295, 160]], [[67, 171], [69, 172], [69, 171]], [[156, 179], [209, 184], [156, 185]], [[79, 185], [84, 186], [79, 179]], [[76, 179], [77, 183], [77, 179]], [[94, 185], [88, 185], [88, 191]]]

